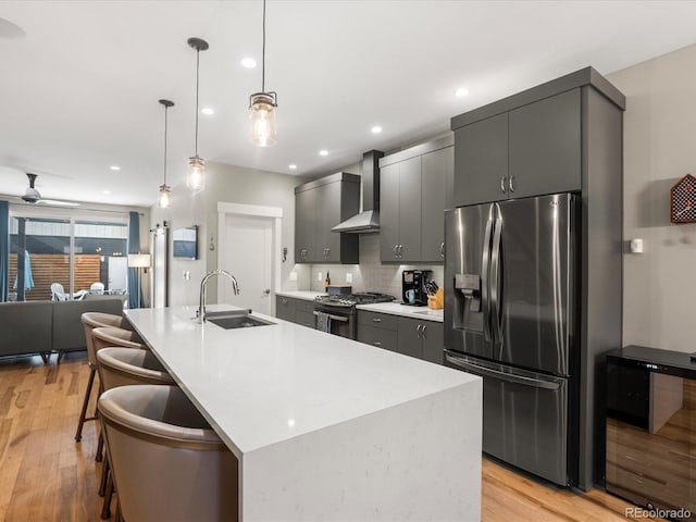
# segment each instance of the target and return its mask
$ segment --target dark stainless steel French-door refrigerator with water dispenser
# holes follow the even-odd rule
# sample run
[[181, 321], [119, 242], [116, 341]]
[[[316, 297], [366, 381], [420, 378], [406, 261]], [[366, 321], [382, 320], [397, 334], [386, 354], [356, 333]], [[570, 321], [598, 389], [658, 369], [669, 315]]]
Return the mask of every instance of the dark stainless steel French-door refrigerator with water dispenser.
[[445, 360], [484, 380], [483, 450], [576, 473], [580, 196], [446, 212]]

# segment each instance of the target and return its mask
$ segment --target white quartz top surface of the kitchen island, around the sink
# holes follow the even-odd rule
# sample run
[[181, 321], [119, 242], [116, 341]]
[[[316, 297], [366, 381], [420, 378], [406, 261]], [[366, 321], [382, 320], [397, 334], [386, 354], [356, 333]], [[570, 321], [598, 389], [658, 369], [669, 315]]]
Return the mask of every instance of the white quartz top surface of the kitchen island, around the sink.
[[195, 307], [125, 313], [238, 457], [478, 378], [262, 314], [276, 324], [198, 324]]

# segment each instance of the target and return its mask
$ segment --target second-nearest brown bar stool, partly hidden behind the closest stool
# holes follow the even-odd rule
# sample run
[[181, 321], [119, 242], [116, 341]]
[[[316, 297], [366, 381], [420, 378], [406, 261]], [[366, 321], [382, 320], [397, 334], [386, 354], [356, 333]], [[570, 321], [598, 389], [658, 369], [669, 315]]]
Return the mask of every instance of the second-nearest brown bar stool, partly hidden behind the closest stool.
[[[123, 347], [102, 348], [97, 351], [97, 369], [99, 370], [99, 382], [103, 390], [140, 384], [176, 384], [150, 350]], [[107, 448], [107, 456], [108, 455], [109, 448]], [[101, 470], [101, 481], [99, 485], [99, 495], [104, 497], [101, 511], [102, 519], [111, 517], [113, 484], [109, 473], [110, 468], [110, 459], [107, 458]]]

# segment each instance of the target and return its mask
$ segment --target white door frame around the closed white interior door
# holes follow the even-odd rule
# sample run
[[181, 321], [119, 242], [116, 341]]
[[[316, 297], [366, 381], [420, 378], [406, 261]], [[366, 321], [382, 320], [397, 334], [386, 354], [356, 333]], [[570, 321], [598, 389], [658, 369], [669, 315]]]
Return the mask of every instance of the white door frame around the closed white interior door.
[[[281, 207], [264, 207], [260, 204], [217, 202], [217, 266], [223, 265], [223, 252], [225, 251], [225, 222], [227, 215], [246, 215], [252, 217], [265, 217], [271, 220], [272, 248], [271, 252], [271, 313], [275, 314], [275, 294], [281, 291], [281, 263], [283, 209]], [[220, 285], [220, 282], [217, 283]], [[220, 293], [220, 288], [217, 289]]]

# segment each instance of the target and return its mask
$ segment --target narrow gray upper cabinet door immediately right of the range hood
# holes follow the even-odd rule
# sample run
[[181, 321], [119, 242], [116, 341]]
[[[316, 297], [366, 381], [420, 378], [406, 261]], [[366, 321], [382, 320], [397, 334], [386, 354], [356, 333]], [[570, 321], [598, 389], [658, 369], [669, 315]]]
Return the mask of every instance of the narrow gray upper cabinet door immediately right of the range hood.
[[399, 165], [380, 171], [380, 258], [398, 261], [399, 245]]

